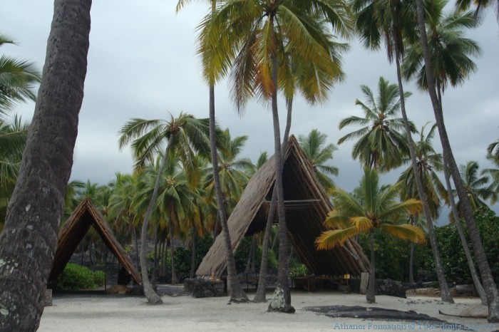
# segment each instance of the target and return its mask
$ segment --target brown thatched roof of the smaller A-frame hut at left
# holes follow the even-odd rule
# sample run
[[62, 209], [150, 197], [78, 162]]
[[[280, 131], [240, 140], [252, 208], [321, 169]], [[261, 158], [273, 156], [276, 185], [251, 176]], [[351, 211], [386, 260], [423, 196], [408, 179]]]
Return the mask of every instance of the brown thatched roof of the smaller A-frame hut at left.
[[53, 259], [52, 271], [48, 277], [48, 283], [51, 284], [57, 281], [59, 274], [62, 273], [76, 247], [78, 247], [78, 244], [80, 244], [91, 226], [101, 235], [103, 242], [116, 256], [132, 279], [137, 284], [140, 284], [140, 275], [135, 266], [133, 266], [132, 261], [130, 261], [130, 257], [115, 239], [101, 212], [98, 212], [88, 198], [84, 199], [76, 207], [71, 217], [64, 224], [61, 232], [59, 232], [56, 256]]

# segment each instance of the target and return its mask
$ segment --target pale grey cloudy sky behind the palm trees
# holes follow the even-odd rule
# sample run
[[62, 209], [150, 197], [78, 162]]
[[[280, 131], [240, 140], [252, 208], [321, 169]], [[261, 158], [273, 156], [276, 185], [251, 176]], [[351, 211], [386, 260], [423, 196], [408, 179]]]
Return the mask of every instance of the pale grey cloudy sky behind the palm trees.
[[[118, 150], [118, 130], [130, 118], [168, 118], [180, 111], [198, 118], [208, 115], [207, 85], [201, 78], [200, 60], [195, 55], [196, 26], [207, 13], [204, 1], [175, 14], [174, 1], [93, 1], [88, 73], [80, 113], [78, 140], [72, 179], [106, 184], [115, 172], [130, 172], [130, 151]], [[2, 33], [19, 46], [2, 46], [1, 53], [34, 61], [43, 66], [46, 41], [51, 26], [53, 1], [3, 1], [0, 10]], [[464, 86], [446, 91], [443, 99], [448, 135], [458, 164], [477, 160], [480, 167], [491, 167], [485, 148], [499, 138], [499, 26], [492, 10], [483, 25], [467, 36], [480, 43], [483, 56], [476, 58], [478, 71]], [[344, 56], [346, 80], [332, 91], [329, 102], [310, 107], [301, 98], [294, 103], [292, 133], [307, 134], [317, 128], [329, 142], [349, 133], [339, 130], [342, 118], [361, 116], [356, 98], [364, 100], [360, 85], [377, 90], [380, 76], [396, 83], [396, 69], [386, 61], [384, 51], [370, 52], [351, 42]], [[411, 83], [413, 92], [406, 101], [408, 116], [421, 128], [434, 121], [428, 96]], [[249, 135], [243, 157], [256, 160], [259, 153], [272, 155], [272, 117], [269, 109], [250, 103], [239, 116], [228, 98], [227, 83], [215, 88], [217, 120], [231, 135]], [[284, 127], [284, 103], [280, 103]], [[30, 120], [34, 104], [16, 108]], [[434, 144], [439, 149], [436, 138]], [[352, 144], [339, 146], [334, 165], [339, 167], [336, 183], [351, 190], [361, 177], [359, 162], [351, 158]], [[384, 176], [386, 182], [400, 170]]]

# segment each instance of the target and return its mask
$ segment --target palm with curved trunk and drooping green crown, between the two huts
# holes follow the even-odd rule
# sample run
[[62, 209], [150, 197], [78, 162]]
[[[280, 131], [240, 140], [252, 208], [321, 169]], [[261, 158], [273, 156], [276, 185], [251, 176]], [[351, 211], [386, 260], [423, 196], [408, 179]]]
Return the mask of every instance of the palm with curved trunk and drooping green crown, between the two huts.
[[[190, 172], [194, 167], [195, 152], [207, 155], [210, 150], [207, 135], [209, 132], [207, 119], [195, 119], [192, 115], [180, 113], [178, 118], [170, 115], [170, 120], [143, 120], [132, 119], [125, 123], [120, 129], [119, 147], [123, 148], [131, 142], [133, 159], [135, 160], [135, 170], [140, 170], [147, 163], [152, 162], [153, 157], [161, 152], [166, 143], [163, 161], [158, 170], [153, 194], [150, 197], [148, 209], [145, 212], [142, 232], [140, 236], [140, 269], [142, 270], [142, 283], [145, 296], [150, 304], [161, 304], [163, 301], [155, 293], [150, 285], [148, 270], [145, 260], [145, 241], [148, 232], [150, 215], [155, 207], [156, 197], [160, 186], [161, 175], [165, 169], [170, 153], [178, 157], [186, 170], [187, 179], [190, 182], [196, 180], [192, 178], [196, 172]], [[166, 141], [166, 142], [165, 142]]]

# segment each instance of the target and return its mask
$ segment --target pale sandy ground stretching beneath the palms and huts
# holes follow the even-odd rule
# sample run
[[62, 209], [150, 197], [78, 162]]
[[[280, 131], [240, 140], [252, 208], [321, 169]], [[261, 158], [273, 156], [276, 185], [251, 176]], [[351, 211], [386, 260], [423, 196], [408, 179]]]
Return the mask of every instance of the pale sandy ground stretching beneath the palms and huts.
[[[250, 299], [253, 294], [249, 294]], [[267, 299], [272, 294], [267, 294]], [[55, 294], [53, 306], [41, 317], [38, 331], [456, 331], [456, 326], [417, 321], [371, 321], [331, 318], [304, 311], [306, 306], [377, 306], [413, 310], [475, 331], [494, 331], [499, 324], [485, 318], [442, 316], [438, 310], [461, 313], [478, 299], [456, 299], [444, 304], [437, 298], [411, 296], [399, 299], [376, 296], [368, 305], [364, 295], [339, 292], [292, 292], [296, 313], [268, 313], [268, 304], [229, 304], [228, 297], [194, 299], [192, 296], [163, 296], [165, 304], [150, 306], [143, 297], [120, 295]], [[443, 328], [442, 328], [443, 327]], [[462, 326], [461, 326], [462, 328]]]

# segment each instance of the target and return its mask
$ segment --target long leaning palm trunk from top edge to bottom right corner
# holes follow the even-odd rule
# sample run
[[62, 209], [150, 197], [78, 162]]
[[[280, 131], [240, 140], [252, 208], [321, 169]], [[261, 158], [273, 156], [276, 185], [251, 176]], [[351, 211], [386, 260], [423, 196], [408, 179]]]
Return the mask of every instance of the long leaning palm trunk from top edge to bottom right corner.
[[490, 266], [488, 265], [487, 256], [483, 250], [483, 245], [480, 240], [480, 234], [478, 234], [478, 229], [476, 228], [475, 217], [471, 211], [470, 202], [466, 196], [463, 180], [459, 174], [458, 165], [454, 159], [451, 143], [448, 140], [447, 130], [445, 123], [443, 122], [443, 113], [438, 104], [438, 97], [435, 90], [435, 80], [433, 78], [433, 68], [431, 66], [430, 52], [428, 51], [428, 38], [426, 37], [426, 28], [424, 21], [424, 11], [423, 11], [423, 0], [416, 0], [416, 9], [418, 14], [418, 26], [419, 26], [419, 38], [421, 40], [421, 50], [423, 51], [423, 58], [425, 63], [425, 73], [426, 81], [428, 83], [428, 93], [430, 94], [431, 105], [433, 106], [433, 113], [435, 114], [435, 120], [438, 127], [438, 134], [442, 142], [442, 150], [446, 152], [446, 157], [444, 157], [444, 162], [447, 162], [448, 168], [451, 171], [451, 175], [456, 186], [456, 191], [458, 192], [459, 201], [461, 202], [463, 216], [466, 222], [466, 227], [468, 228], [468, 234], [470, 235], [471, 244], [473, 245], [473, 251], [475, 252], [476, 260], [478, 263], [478, 269], [480, 270], [480, 275], [482, 276], [483, 288], [485, 289], [485, 294], [487, 294], [487, 304], [488, 304], [488, 321], [498, 322], [499, 321], [499, 293], [498, 288], [495, 285], [495, 281], [492, 277], [492, 272], [490, 271]]

